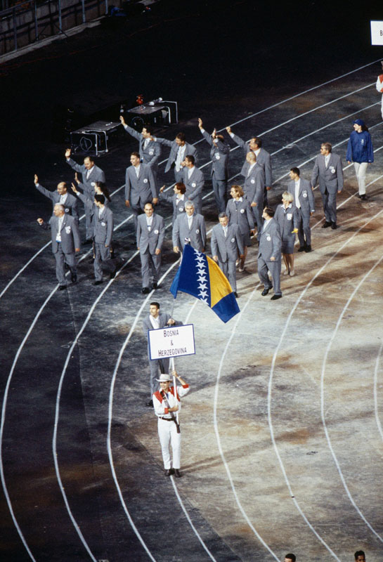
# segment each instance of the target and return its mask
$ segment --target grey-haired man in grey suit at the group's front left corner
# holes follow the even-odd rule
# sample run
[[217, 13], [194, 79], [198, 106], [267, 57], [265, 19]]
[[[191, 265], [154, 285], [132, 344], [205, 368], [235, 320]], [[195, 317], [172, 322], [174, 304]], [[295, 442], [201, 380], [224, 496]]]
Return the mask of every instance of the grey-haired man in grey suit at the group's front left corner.
[[56, 277], [59, 282], [59, 289], [67, 288], [65, 281], [64, 263], [70, 268], [72, 282], [77, 281], [77, 265], [75, 254], [80, 251], [80, 235], [77, 221], [73, 216], [65, 214], [62, 204], [56, 203], [53, 207], [53, 216], [48, 224], [42, 218], [37, 222], [44, 230], [51, 229], [52, 253], [56, 259]]

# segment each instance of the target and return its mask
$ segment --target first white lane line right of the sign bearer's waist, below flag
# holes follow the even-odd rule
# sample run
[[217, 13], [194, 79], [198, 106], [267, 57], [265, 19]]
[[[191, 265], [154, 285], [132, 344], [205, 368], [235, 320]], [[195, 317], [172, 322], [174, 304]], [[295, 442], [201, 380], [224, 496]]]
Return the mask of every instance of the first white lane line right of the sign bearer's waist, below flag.
[[[257, 285], [257, 287], [259, 287], [259, 285]], [[213, 419], [214, 419], [214, 431], [216, 433], [216, 443], [217, 443], [217, 447], [219, 450], [219, 455], [221, 455], [221, 459], [222, 459], [222, 463], [223, 466], [225, 467], [226, 470], [226, 474], [228, 476], [228, 481], [231, 485], [231, 490], [233, 492], [233, 496], [235, 499], [236, 504], [238, 505], [238, 509], [240, 510], [242, 517], [245, 519], [247, 525], [249, 525], [249, 528], [252, 530], [252, 532], [254, 533], [254, 535], [257, 537], [257, 539], [259, 540], [259, 542], [261, 542], [261, 544], [264, 546], [264, 548], [271, 554], [271, 556], [273, 556], [273, 558], [275, 558], [275, 560], [279, 561], [278, 556], [275, 554], [275, 552], [273, 552], [271, 550], [271, 548], [268, 546], [268, 544], [266, 544], [266, 542], [262, 539], [261, 535], [259, 535], [259, 532], [257, 531], [256, 528], [254, 528], [254, 525], [252, 524], [252, 522], [249, 520], [249, 517], [247, 516], [247, 513], [245, 511], [245, 509], [242, 507], [242, 504], [240, 502], [240, 499], [238, 497], [238, 494], [235, 490], [235, 485], [233, 482], [233, 478], [231, 477], [231, 471], [228, 467], [228, 463], [226, 462], [226, 458], [225, 455], [223, 454], [223, 450], [222, 450], [222, 446], [221, 446], [221, 436], [219, 435], [219, 429], [218, 429], [218, 422], [216, 419], [216, 412], [217, 412], [217, 402], [218, 402], [218, 391], [219, 391], [219, 380], [221, 379], [221, 372], [222, 372], [222, 367], [223, 367], [223, 361], [226, 357], [226, 353], [228, 351], [228, 347], [231, 344], [231, 341], [234, 337], [235, 334], [235, 330], [237, 329], [238, 323], [240, 322], [240, 320], [242, 319], [242, 314], [245, 313], [245, 310], [247, 308], [247, 306], [249, 305], [250, 301], [252, 300], [252, 297], [254, 296], [257, 287], [252, 291], [252, 293], [250, 294], [249, 298], [247, 299], [247, 302], [245, 304], [245, 306], [242, 308], [242, 310], [240, 311], [238, 318], [235, 321], [235, 325], [233, 326], [233, 329], [231, 331], [231, 335], [226, 343], [225, 349], [222, 353], [221, 356], [221, 361], [219, 362], [219, 369], [216, 375], [216, 386], [215, 386], [215, 390], [214, 390], [214, 408], [213, 408]]]

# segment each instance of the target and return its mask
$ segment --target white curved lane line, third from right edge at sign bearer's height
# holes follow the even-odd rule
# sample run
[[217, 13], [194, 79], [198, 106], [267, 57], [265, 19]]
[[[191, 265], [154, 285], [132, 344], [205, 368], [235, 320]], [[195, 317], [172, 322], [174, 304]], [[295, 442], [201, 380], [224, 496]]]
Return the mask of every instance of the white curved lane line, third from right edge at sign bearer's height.
[[267, 408], [268, 408], [268, 426], [270, 429], [270, 436], [271, 436], [271, 441], [273, 443], [273, 447], [274, 447], [274, 451], [275, 451], [275, 455], [278, 459], [279, 465], [280, 465], [280, 470], [283, 473], [283, 477], [285, 478], [285, 483], [287, 485], [287, 490], [289, 490], [290, 493], [290, 497], [292, 497], [292, 500], [295, 504], [295, 507], [297, 508], [297, 510], [299, 511], [299, 513], [301, 514], [301, 516], [304, 518], [304, 521], [306, 521], [307, 525], [309, 525], [309, 528], [312, 530], [312, 532], [314, 533], [314, 535], [316, 535], [316, 537], [318, 538], [318, 540], [320, 540], [320, 542], [322, 542], [322, 544], [327, 548], [327, 550], [330, 552], [330, 554], [338, 561], [341, 562], [339, 560], [339, 558], [337, 557], [337, 555], [335, 554], [335, 552], [332, 551], [332, 549], [330, 549], [330, 547], [327, 546], [327, 544], [324, 542], [324, 540], [322, 539], [322, 537], [320, 537], [320, 535], [318, 535], [318, 533], [316, 532], [316, 530], [313, 528], [313, 526], [311, 525], [311, 523], [308, 521], [308, 519], [306, 518], [306, 516], [304, 515], [303, 511], [301, 511], [301, 508], [299, 507], [299, 504], [297, 502], [297, 499], [295, 498], [294, 492], [292, 490], [292, 487], [290, 485], [290, 481], [289, 478], [287, 477], [287, 473], [285, 471], [285, 466], [283, 464], [283, 461], [280, 457], [280, 453], [278, 450], [278, 446], [275, 442], [275, 436], [274, 436], [274, 429], [273, 429], [273, 421], [271, 419], [271, 393], [272, 393], [272, 387], [273, 387], [273, 374], [274, 374], [274, 370], [275, 370], [275, 362], [277, 359], [277, 355], [280, 351], [280, 347], [282, 346], [282, 342], [283, 339], [285, 338], [285, 335], [287, 333], [287, 328], [290, 325], [290, 321], [292, 320], [292, 315], [294, 314], [294, 312], [297, 310], [297, 307], [299, 305], [299, 303], [301, 302], [301, 300], [304, 298], [306, 292], [309, 290], [309, 288], [311, 287], [311, 285], [313, 285], [313, 282], [316, 280], [316, 278], [323, 272], [323, 270], [325, 270], [325, 268], [328, 266], [328, 264], [335, 259], [335, 257], [337, 256], [337, 254], [339, 254], [339, 252], [342, 251], [342, 249], [344, 249], [344, 247], [346, 247], [347, 244], [349, 244], [349, 242], [351, 242], [351, 240], [353, 240], [354, 237], [356, 237], [356, 235], [358, 235], [358, 233], [361, 232], [361, 230], [363, 230], [363, 228], [365, 228], [365, 226], [367, 226], [371, 221], [375, 220], [375, 218], [377, 218], [377, 216], [379, 216], [382, 213], [382, 211], [379, 211], [377, 214], [375, 214], [374, 216], [372, 216], [372, 218], [370, 218], [368, 221], [366, 221], [365, 223], [363, 223], [363, 225], [358, 228], [358, 230], [356, 230], [355, 233], [353, 233], [353, 235], [351, 235], [351, 237], [349, 237], [343, 244], [341, 247], [339, 247], [339, 249], [337, 249], [337, 251], [335, 251], [335, 254], [332, 254], [332, 256], [330, 256], [329, 259], [327, 259], [327, 261], [323, 264], [323, 266], [318, 269], [318, 271], [316, 272], [316, 274], [312, 277], [312, 279], [309, 281], [309, 283], [307, 283], [306, 287], [304, 288], [304, 290], [301, 292], [301, 294], [299, 295], [297, 301], [295, 301], [294, 306], [292, 307], [287, 320], [285, 322], [285, 327], [283, 328], [283, 332], [280, 335], [280, 339], [278, 341], [278, 345], [275, 348], [275, 352], [273, 354], [273, 360], [271, 362], [271, 370], [270, 370], [270, 377], [269, 377], [269, 381], [268, 381], [268, 397], [267, 397]]

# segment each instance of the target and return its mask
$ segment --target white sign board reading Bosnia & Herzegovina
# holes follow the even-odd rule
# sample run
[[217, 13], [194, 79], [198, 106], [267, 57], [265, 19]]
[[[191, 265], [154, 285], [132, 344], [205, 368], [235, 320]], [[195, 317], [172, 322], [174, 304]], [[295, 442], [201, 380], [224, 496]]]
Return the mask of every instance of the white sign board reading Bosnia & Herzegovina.
[[150, 359], [171, 359], [195, 353], [194, 325], [148, 330]]

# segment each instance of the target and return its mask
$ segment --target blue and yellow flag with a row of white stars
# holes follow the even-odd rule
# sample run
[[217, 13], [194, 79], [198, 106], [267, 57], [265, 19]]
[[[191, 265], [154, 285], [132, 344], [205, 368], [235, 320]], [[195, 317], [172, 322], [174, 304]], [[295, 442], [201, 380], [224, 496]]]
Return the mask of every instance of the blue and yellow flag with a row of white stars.
[[174, 299], [178, 291], [207, 303], [223, 322], [240, 312], [233, 289], [219, 266], [190, 244], [185, 244], [181, 266], [171, 283], [170, 292]]

